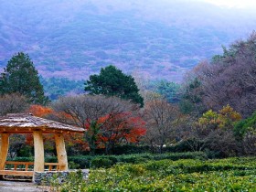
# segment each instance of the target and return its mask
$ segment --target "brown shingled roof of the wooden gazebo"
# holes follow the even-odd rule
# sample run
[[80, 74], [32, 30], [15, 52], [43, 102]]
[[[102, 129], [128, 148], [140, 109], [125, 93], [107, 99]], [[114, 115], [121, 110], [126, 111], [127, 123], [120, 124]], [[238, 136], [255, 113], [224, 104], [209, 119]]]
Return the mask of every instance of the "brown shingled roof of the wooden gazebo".
[[0, 133], [43, 133], [84, 132], [83, 128], [39, 118], [32, 114], [10, 113], [0, 117]]

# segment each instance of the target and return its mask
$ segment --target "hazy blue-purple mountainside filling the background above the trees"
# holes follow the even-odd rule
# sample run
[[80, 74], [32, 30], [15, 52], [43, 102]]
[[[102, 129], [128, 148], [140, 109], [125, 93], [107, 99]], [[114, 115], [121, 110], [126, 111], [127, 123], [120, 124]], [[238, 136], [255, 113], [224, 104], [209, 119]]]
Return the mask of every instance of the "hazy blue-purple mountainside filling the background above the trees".
[[248, 7], [200, 0], [0, 0], [0, 69], [24, 51], [45, 77], [85, 80], [113, 64], [182, 79], [256, 28]]

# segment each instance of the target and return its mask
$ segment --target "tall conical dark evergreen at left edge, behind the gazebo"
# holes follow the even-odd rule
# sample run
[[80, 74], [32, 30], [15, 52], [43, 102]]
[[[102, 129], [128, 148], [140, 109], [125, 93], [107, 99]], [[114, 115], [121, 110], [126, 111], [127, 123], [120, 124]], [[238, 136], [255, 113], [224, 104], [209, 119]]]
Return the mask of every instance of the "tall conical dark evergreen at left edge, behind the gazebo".
[[0, 75], [0, 94], [19, 92], [29, 102], [46, 104], [48, 97], [44, 95], [43, 86], [39, 81], [37, 69], [27, 54], [17, 53], [10, 59], [5, 72]]

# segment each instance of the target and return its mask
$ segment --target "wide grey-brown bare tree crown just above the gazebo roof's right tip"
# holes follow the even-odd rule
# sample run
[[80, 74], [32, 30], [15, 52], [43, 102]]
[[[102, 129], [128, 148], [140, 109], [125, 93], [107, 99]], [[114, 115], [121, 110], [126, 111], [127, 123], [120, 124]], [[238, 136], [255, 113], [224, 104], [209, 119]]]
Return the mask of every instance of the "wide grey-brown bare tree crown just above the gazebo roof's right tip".
[[[138, 105], [123, 101], [117, 97], [102, 95], [78, 95], [60, 98], [52, 103], [55, 112], [65, 112], [59, 116], [62, 122], [84, 127], [90, 121], [96, 121], [107, 114], [136, 112]], [[68, 114], [70, 118], [67, 118]]]

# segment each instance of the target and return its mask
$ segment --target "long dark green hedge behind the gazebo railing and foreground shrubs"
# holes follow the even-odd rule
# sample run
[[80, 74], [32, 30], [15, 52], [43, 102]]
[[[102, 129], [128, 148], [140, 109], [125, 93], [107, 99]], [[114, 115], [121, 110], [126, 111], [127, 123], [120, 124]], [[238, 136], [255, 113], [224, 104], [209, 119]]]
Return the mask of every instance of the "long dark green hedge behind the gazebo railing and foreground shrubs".
[[[179, 159], [207, 159], [207, 155], [203, 152], [187, 152], [187, 153], [167, 153], [161, 155], [154, 154], [136, 154], [136, 155], [80, 155], [69, 156], [70, 168], [108, 168], [115, 164], [121, 163], [143, 163], [149, 160], [179, 160]], [[32, 157], [16, 157], [15, 161], [33, 161]], [[46, 157], [46, 162], [57, 162], [56, 157]]]

